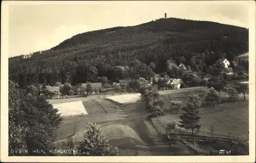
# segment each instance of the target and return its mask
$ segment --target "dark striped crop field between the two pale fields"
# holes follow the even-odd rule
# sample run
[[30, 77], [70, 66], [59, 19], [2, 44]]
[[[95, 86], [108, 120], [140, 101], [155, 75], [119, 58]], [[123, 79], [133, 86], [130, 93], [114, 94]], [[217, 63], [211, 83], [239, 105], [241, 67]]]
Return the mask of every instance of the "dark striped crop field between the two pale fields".
[[107, 100], [83, 101], [89, 115], [100, 115], [117, 112], [118, 106]]

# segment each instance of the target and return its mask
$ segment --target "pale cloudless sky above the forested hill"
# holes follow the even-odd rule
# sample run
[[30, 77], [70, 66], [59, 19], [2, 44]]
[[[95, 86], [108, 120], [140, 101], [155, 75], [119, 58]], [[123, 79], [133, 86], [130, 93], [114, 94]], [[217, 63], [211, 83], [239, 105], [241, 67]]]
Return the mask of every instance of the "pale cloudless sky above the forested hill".
[[[93, 30], [164, 17], [215, 21], [248, 28], [248, 5], [169, 1], [40, 2], [9, 5], [9, 57], [47, 50]], [[47, 4], [46, 4], [47, 3]]]

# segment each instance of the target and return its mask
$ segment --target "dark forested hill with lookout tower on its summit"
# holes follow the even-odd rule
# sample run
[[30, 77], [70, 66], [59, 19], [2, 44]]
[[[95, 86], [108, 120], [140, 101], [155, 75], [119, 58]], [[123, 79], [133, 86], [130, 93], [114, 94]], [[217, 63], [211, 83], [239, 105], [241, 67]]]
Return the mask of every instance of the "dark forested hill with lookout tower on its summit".
[[[95, 82], [97, 76], [151, 77], [166, 61], [206, 72], [219, 58], [248, 51], [248, 30], [216, 22], [158, 19], [136, 26], [78, 34], [50, 50], [9, 58], [9, 79], [33, 83]], [[154, 71], [154, 72], [153, 72]]]

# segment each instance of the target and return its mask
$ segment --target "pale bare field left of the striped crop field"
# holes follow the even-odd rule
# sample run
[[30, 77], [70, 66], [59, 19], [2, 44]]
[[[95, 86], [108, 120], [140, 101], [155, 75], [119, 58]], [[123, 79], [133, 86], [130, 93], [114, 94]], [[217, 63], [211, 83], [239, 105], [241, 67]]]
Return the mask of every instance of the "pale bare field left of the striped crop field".
[[83, 107], [82, 101], [53, 104], [53, 107], [59, 110], [62, 117], [88, 115]]

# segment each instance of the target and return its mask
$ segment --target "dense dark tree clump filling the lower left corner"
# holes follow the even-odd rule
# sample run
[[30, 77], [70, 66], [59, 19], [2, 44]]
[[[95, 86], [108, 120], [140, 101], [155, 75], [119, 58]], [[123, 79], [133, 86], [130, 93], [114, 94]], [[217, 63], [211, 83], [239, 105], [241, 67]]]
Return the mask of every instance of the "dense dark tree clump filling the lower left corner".
[[27, 149], [27, 155], [47, 155], [32, 150], [52, 149], [53, 134], [62, 118], [44, 97], [25, 93], [9, 81], [9, 154], [20, 155], [11, 149]]

